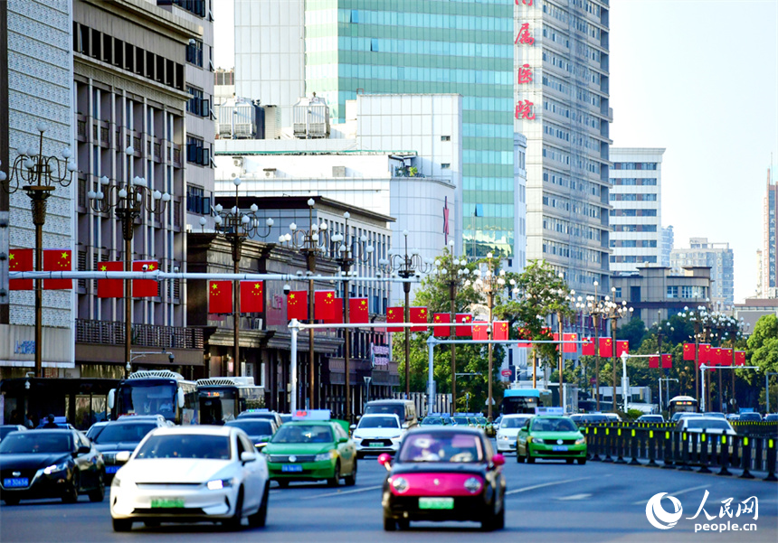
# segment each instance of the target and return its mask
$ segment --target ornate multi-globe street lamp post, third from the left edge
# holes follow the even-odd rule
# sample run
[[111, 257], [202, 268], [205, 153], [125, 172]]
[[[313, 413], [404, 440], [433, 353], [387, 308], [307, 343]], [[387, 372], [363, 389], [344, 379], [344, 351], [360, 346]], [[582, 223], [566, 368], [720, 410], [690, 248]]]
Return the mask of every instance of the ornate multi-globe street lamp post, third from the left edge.
[[[260, 218], [257, 217], [259, 207], [252, 203], [250, 212], [243, 213], [238, 205], [238, 187], [241, 186], [241, 178], [236, 177], [232, 180], [235, 185], [235, 205], [232, 210], [224, 210], [221, 204], [216, 204], [213, 211], [216, 217], [213, 220], [214, 230], [218, 236], [227, 240], [232, 248], [232, 273], [240, 273], [242, 246], [243, 242], [251, 237], [267, 238], [270, 236], [270, 229], [273, 226], [273, 220], [265, 220], [265, 226], [268, 231], [261, 234]], [[205, 226], [205, 218], [200, 218], [200, 226]], [[234, 281], [232, 285], [232, 360], [234, 360], [234, 374], [241, 377], [241, 293], [240, 283]], [[227, 375], [228, 370], [222, 369], [223, 375]]]

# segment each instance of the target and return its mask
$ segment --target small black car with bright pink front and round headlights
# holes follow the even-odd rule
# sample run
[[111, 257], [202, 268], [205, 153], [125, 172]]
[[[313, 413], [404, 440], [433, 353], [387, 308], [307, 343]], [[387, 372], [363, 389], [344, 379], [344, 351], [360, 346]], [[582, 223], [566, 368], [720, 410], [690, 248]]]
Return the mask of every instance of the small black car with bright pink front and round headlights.
[[483, 430], [421, 426], [409, 430], [394, 456], [378, 462], [384, 481], [384, 529], [407, 529], [412, 520], [474, 520], [481, 529], [505, 527], [505, 458]]

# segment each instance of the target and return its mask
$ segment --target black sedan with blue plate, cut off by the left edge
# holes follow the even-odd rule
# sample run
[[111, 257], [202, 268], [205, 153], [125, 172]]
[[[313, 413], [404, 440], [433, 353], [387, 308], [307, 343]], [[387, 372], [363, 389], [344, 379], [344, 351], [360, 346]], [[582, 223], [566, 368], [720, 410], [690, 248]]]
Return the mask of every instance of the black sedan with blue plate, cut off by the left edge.
[[0, 490], [5, 505], [20, 500], [62, 498], [90, 501], [105, 496], [100, 452], [78, 430], [13, 432], [0, 442]]

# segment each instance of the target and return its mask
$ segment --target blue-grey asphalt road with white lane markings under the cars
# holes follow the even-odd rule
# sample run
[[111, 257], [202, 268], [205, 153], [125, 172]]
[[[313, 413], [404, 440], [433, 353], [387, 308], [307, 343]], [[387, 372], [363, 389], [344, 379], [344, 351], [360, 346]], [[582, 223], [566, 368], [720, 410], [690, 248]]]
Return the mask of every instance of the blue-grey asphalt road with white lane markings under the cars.
[[[381, 483], [384, 467], [374, 458], [359, 463], [356, 487], [327, 488], [319, 484], [292, 484], [270, 491], [268, 525], [242, 534], [226, 532], [211, 524], [163, 525], [147, 529], [137, 523], [131, 533], [111, 529], [108, 497], [90, 503], [82, 496], [77, 504], [61, 501], [23, 501], [14, 507], [0, 506], [0, 541], [12, 542], [106, 542], [156, 541], [187, 543], [233, 541], [256, 538], [265, 542], [308, 541], [510, 541], [529, 538], [546, 541], [778, 541], [778, 483], [760, 479], [742, 480], [703, 473], [681, 473], [612, 463], [568, 465], [539, 462], [518, 464], [508, 456], [506, 529], [484, 533], [475, 523], [418, 523], [402, 532], [384, 532], [381, 514]], [[705, 510], [716, 524], [754, 524], [755, 531], [700, 531], [695, 524], [708, 522], [697, 512], [705, 491]], [[652, 527], [646, 503], [659, 492], [669, 492], [681, 502], [683, 515], [670, 529]], [[719, 519], [722, 501], [732, 498], [732, 510], [740, 501], [756, 496], [758, 519], [741, 514]], [[665, 499], [663, 509], [672, 504]]]

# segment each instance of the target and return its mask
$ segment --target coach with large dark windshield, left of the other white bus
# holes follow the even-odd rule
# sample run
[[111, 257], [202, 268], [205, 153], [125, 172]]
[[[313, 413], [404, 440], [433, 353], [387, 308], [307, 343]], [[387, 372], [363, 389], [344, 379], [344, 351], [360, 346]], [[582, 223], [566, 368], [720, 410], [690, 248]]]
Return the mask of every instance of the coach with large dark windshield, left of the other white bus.
[[197, 423], [197, 385], [170, 370], [130, 373], [109, 392], [111, 419], [122, 415], [162, 415], [177, 425]]

